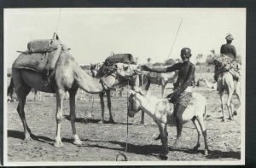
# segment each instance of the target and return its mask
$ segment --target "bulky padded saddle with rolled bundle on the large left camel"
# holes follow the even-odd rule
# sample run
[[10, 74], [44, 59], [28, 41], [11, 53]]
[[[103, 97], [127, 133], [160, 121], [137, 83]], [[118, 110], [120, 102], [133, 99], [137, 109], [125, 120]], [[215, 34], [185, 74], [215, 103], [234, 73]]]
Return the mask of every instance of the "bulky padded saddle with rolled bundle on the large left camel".
[[58, 38], [32, 40], [27, 43], [26, 51], [18, 51], [21, 54], [13, 63], [13, 68], [26, 68], [36, 72], [53, 70], [63, 46]]

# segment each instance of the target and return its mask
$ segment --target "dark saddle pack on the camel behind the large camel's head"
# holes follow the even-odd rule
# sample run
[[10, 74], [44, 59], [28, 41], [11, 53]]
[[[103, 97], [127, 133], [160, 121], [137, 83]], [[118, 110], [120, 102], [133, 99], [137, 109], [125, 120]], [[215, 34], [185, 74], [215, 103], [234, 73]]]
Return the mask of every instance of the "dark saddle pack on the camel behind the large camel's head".
[[133, 55], [131, 54], [114, 54], [108, 56], [108, 58], [105, 60], [105, 62], [108, 63], [128, 63], [128, 64], [136, 64], [136, 61], [134, 61]]

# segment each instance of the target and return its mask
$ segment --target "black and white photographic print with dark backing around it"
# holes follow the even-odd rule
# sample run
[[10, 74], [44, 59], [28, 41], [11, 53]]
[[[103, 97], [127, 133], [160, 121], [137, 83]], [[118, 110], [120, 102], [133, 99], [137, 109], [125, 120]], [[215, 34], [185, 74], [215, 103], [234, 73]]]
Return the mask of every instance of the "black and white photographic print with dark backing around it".
[[3, 9], [3, 165], [245, 165], [246, 8]]

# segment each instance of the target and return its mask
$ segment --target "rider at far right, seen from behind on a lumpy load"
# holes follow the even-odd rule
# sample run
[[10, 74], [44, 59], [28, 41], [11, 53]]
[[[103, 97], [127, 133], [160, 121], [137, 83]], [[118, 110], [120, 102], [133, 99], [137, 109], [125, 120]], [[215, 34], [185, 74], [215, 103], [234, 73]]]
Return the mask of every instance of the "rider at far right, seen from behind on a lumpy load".
[[214, 58], [215, 74], [214, 80], [218, 80], [218, 74], [223, 71], [230, 71], [233, 78], [238, 80], [240, 77], [241, 65], [236, 61], [236, 48], [232, 45], [233, 36], [228, 34], [226, 36], [227, 43], [220, 48], [220, 56]]

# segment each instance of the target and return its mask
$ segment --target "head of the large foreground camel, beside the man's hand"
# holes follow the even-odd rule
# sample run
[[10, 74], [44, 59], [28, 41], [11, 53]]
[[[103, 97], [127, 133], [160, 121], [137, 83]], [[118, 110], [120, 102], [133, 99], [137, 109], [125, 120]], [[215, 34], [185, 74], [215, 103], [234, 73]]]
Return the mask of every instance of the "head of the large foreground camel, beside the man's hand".
[[135, 64], [115, 63], [113, 67], [120, 78], [131, 78], [142, 72], [140, 66]]

